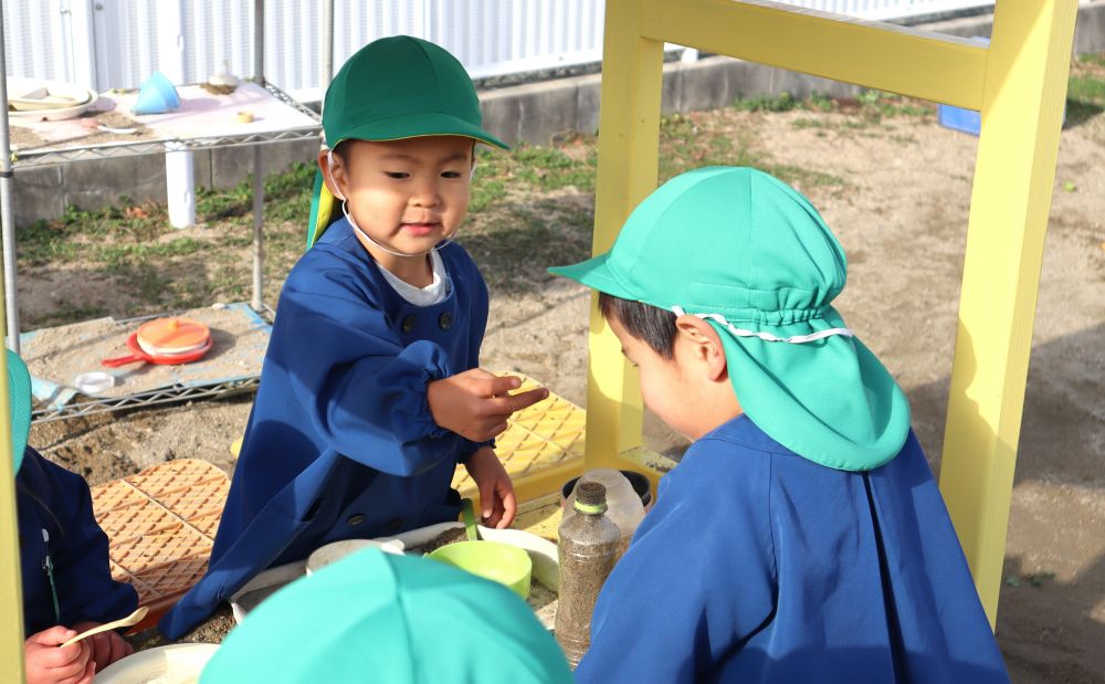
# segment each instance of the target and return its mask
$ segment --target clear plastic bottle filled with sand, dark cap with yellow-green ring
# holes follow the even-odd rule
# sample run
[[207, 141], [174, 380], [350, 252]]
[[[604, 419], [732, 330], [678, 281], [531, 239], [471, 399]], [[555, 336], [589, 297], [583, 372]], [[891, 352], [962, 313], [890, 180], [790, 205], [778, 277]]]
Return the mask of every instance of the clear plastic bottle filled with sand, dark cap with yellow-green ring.
[[618, 561], [621, 530], [606, 516], [607, 488], [597, 482], [576, 487], [576, 515], [560, 524], [560, 597], [555, 633], [576, 667], [591, 645], [591, 613], [599, 590]]

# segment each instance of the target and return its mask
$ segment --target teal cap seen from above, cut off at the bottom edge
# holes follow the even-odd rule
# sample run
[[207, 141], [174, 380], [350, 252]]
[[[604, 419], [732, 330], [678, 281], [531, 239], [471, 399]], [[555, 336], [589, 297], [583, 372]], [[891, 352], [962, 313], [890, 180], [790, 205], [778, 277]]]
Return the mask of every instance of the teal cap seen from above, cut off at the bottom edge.
[[266, 599], [200, 676], [201, 684], [571, 681], [560, 648], [509, 589], [375, 548]]

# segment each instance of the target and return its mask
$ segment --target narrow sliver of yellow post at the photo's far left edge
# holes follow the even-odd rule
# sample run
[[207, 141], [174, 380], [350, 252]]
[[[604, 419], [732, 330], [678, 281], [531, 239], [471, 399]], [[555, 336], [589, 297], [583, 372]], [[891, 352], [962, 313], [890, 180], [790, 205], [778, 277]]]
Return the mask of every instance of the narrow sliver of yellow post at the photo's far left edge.
[[[3, 283], [0, 278], [0, 302]], [[3, 338], [0, 313], [0, 339]], [[10, 474], [11, 398], [8, 396], [8, 356], [0, 354], [0, 681], [23, 681], [23, 587], [19, 567], [19, 525], [15, 517], [15, 478]]]

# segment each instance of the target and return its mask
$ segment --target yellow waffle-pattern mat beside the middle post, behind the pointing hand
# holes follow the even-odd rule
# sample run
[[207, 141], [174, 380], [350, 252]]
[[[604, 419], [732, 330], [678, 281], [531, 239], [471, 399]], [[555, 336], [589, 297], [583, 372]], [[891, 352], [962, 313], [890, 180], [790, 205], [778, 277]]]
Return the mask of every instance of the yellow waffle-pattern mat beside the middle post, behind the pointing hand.
[[[540, 382], [522, 373], [505, 373], [522, 378], [525, 391]], [[495, 453], [512, 478], [540, 471], [573, 457], [583, 456], [583, 409], [564, 397], [549, 392], [549, 398], [518, 411], [507, 420], [506, 431], [495, 438]], [[453, 487], [463, 492], [475, 488], [475, 482], [463, 467], [456, 469]]]

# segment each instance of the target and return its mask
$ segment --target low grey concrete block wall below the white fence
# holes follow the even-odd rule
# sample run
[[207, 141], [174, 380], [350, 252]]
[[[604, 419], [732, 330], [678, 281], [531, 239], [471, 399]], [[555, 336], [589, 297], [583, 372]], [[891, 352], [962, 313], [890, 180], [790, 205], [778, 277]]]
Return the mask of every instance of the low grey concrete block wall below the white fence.
[[[979, 15], [926, 24], [924, 29], [953, 35], [990, 35], [992, 15]], [[1105, 50], [1105, 0], [1084, 3], [1078, 10], [1074, 52]], [[481, 93], [484, 125], [507, 143], [547, 145], [558, 134], [594, 133], [599, 126], [601, 76], [591, 74], [484, 91]], [[789, 92], [804, 97], [811, 92], [846, 96], [852, 85], [804, 74], [740, 62], [707, 57], [694, 63], [664, 65], [661, 108], [665, 114], [723, 107], [738, 98]], [[312, 140], [274, 143], [264, 148], [265, 172], [287, 168], [293, 161], [314, 162], [318, 145]], [[235, 147], [196, 152], [196, 182], [207, 188], [228, 188], [241, 182], [253, 169], [249, 148]], [[42, 168], [17, 169], [14, 177], [15, 224], [60, 217], [65, 207], [96, 209], [112, 204], [120, 194], [135, 202], [166, 201], [165, 159], [161, 155], [98, 161], [74, 161]]]

